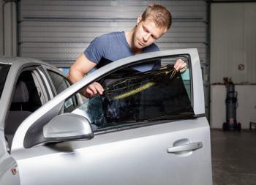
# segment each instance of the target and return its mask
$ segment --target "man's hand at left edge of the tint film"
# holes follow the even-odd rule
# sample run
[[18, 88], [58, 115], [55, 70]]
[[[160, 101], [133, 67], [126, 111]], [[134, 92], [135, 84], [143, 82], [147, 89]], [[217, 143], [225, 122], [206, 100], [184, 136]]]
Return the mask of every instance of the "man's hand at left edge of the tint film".
[[91, 98], [91, 97], [94, 97], [96, 94], [102, 94], [103, 91], [104, 91], [104, 88], [102, 87], [102, 85], [100, 85], [97, 82], [94, 82], [94, 83], [91, 83], [89, 86], [86, 86], [85, 88], [83, 88], [81, 93], [86, 98]]

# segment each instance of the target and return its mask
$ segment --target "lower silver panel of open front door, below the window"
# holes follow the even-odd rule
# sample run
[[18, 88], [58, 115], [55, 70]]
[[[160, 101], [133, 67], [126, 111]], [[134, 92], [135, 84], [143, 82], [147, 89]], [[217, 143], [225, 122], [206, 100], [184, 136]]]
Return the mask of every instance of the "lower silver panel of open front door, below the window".
[[[20, 180], [28, 185], [208, 184], [211, 154], [206, 136], [206, 118], [196, 118], [29, 148], [17, 156]], [[167, 153], [176, 140], [185, 138], [203, 147], [187, 156]], [[184, 178], [177, 178], [181, 174]]]

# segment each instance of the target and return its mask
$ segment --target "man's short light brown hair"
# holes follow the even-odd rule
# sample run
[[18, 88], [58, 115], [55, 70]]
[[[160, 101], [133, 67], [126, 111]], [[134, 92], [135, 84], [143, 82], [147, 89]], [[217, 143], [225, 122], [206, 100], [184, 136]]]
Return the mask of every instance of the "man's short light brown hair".
[[170, 15], [170, 11], [167, 10], [166, 7], [159, 4], [150, 4], [143, 12], [142, 20], [146, 20], [150, 18], [154, 21], [154, 23], [159, 28], [170, 29], [170, 25], [172, 23], [172, 15]]

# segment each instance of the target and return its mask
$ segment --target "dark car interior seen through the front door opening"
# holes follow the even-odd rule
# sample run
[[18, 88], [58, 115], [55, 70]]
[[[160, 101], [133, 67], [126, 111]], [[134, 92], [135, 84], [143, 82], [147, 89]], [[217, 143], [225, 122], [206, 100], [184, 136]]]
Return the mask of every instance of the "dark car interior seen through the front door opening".
[[16, 83], [5, 122], [4, 132], [9, 146], [11, 146], [12, 138], [20, 124], [42, 106], [40, 96], [42, 94], [34, 83], [32, 71], [22, 72]]

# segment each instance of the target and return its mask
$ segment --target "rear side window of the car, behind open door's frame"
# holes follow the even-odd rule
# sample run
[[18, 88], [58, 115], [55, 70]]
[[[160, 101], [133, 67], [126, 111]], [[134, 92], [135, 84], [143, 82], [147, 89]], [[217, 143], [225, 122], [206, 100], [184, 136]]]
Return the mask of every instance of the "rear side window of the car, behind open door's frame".
[[[59, 75], [57, 72], [53, 72], [51, 70], [48, 70], [48, 74], [50, 75], [50, 78], [53, 82], [53, 86], [56, 89], [56, 94], [60, 94], [62, 91], [64, 91], [66, 88], [70, 86], [69, 81], [64, 78], [64, 76]], [[78, 105], [77, 99], [74, 96], [70, 97], [69, 99], [66, 99], [64, 102], [64, 112], [69, 112], [70, 110], [73, 110], [75, 106]]]

